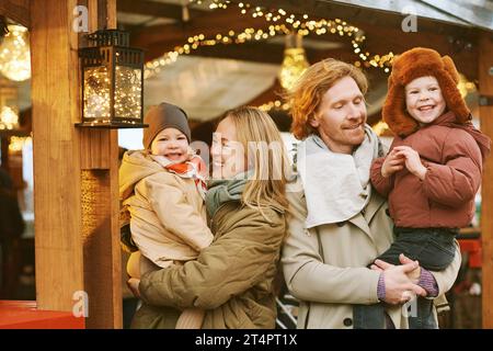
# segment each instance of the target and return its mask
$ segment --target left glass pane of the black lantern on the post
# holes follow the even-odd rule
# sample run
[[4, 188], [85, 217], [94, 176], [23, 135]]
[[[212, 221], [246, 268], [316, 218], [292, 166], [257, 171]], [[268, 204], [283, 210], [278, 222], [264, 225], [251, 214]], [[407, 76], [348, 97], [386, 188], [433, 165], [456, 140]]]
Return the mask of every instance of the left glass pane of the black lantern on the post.
[[84, 68], [84, 118], [111, 118], [110, 89], [107, 67]]

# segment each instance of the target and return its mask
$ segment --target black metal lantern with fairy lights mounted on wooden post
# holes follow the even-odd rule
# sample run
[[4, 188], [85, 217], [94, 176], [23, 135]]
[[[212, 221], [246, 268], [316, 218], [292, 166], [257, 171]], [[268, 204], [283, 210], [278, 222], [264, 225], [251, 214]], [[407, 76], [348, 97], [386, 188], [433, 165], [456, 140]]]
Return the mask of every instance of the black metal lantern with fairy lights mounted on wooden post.
[[77, 126], [141, 128], [144, 52], [128, 46], [129, 34], [102, 30], [89, 34], [79, 49], [82, 123]]

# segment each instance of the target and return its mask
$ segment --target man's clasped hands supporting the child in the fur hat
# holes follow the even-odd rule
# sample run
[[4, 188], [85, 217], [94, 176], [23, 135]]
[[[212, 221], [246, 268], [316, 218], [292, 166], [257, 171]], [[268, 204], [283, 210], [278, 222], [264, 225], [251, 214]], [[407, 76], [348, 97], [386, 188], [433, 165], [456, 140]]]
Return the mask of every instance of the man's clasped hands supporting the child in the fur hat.
[[426, 296], [426, 291], [413, 283], [406, 275], [419, 268], [416, 261], [411, 261], [402, 265], [393, 265], [381, 260], [376, 260], [375, 264], [383, 270], [386, 303], [398, 305], [406, 303], [414, 295]]

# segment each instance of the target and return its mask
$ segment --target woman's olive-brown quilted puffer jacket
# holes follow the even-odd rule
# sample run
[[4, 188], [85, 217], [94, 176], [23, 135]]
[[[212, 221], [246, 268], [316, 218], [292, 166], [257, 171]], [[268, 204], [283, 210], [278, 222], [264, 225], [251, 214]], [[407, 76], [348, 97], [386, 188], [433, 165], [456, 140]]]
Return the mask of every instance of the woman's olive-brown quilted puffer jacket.
[[273, 281], [286, 223], [277, 203], [264, 215], [270, 220], [239, 202], [223, 204], [211, 220], [215, 239], [196, 261], [142, 276], [145, 304], [133, 328], [173, 328], [179, 312], [170, 306], [206, 309], [205, 329], [274, 328]]

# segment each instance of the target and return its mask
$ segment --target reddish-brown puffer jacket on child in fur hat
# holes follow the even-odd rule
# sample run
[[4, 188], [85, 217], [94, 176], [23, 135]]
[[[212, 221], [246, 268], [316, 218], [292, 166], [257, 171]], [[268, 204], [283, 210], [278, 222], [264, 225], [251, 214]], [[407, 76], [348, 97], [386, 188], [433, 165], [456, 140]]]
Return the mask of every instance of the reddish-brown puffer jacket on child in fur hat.
[[385, 158], [374, 161], [371, 183], [389, 196], [395, 226], [460, 228], [470, 224], [481, 184], [482, 155], [489, 154], [490, 139], [472, 126], [455, 122], [454, 113], [447, 112], [404, 139], [393, 139], [391, 149], [405, 145], [420, 154], [427, 168], [423, 181], [405, 167], [383, 178]]

